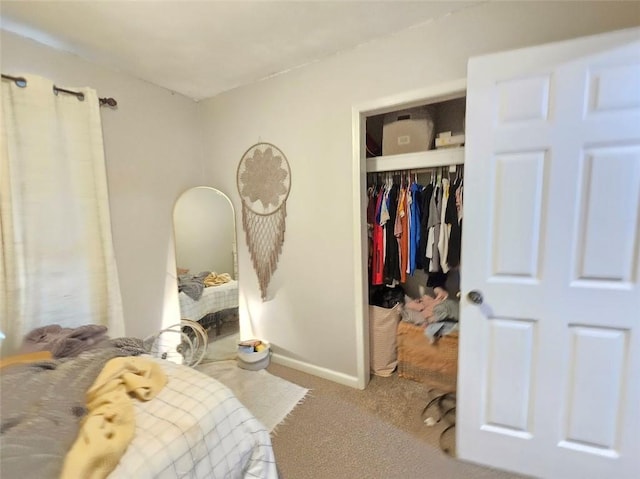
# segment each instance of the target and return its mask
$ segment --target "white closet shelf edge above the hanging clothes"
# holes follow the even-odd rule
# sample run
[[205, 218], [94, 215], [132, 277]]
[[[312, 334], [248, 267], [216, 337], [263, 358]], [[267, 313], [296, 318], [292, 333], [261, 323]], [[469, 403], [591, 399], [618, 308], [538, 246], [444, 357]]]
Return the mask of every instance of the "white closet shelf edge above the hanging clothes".
[[464, 164], [464, 147], [367, 158], [367, 173]]

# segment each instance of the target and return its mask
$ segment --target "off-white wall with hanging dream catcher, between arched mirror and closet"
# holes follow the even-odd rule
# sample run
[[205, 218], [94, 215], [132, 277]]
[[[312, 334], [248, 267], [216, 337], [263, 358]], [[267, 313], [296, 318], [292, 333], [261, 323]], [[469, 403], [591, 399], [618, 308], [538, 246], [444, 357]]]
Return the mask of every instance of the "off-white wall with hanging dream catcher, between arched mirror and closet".
[[239, 233], [241, 309], [251, 334], [293, 365], [350, 382], [357, 375], [352, 108], [464, 78], [471, 56], [626, 28], [637, 2], [491, 2], [202, 103], [211, 184], [234, 202], [237, 164], [274, 143], [292, 171], [278, 269], [261, 302]]

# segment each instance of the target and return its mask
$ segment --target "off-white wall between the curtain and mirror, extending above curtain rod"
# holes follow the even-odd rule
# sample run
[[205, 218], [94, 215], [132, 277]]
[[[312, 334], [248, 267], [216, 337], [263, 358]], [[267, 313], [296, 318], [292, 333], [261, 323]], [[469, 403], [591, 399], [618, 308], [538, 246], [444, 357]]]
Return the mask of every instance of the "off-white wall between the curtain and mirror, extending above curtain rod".
[[180, 193], [202, 179], [197, 104], [5, 31], [1, 40], [2, 73], [90, 86], [118, 101], [117, 110], [101, 112], [126, 334], [151, 334], [163, 317], [175, 323], [180, 316], [171, 217]]

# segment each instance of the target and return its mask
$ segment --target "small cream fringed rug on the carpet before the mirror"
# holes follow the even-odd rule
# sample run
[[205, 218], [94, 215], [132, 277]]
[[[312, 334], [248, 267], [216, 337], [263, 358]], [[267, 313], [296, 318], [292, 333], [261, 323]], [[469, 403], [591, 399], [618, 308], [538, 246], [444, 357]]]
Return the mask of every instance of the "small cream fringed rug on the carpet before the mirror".
[[217, 379], [271, 432], [300, 404], [308, 389], [267, 372], [239, 368], [236, 361], [204, 363], [198, 371]]

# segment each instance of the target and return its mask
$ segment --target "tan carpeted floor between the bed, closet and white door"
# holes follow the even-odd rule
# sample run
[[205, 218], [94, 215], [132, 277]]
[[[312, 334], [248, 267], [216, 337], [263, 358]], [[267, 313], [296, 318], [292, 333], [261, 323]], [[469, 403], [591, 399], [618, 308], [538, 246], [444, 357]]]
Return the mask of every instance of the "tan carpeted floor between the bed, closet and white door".
[[[360, 391], [273, 362], [270, 373], [310, 389], [278, 427], [273, 447], [281, 479], [516, 479], [523, 476], [449, 457], [446, 424], [426, 426], [425, 385], [374, 376]], [[431, 410], [431, 408], [430, 408]], [[454, 434], [445, 437], [455, 448]]]

